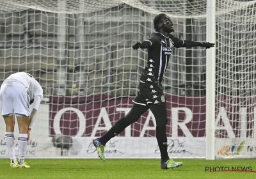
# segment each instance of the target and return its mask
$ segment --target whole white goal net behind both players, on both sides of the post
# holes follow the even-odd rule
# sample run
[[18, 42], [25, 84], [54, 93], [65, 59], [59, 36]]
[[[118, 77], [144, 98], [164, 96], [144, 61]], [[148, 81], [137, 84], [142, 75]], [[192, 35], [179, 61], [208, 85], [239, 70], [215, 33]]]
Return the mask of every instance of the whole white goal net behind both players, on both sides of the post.
[[[147, 50], [132, 45], [154, 32], [157, 14], [177, 38], [206, 41], [206, 0], [0, 3], [0, 83], [28, 72], [44, 89], [27, 157], [97, 157], [92, 139], [132, 107], [147, 64]], [[255, 4], [216, 0], [216, 158], [255, 157]], [[172, 158], [205, 157], [206, 63], [202, 47], [173, 49], [163, 84]], [[106, 157], [160, 157], [155, 128], [147, 111], [106, 144]]]

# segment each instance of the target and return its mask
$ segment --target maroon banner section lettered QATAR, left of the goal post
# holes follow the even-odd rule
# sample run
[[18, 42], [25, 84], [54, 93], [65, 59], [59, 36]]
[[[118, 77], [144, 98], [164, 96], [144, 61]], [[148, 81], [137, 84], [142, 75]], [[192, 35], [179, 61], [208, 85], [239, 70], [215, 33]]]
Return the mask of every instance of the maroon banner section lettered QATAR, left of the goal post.
[[[102, 130], [102, 128], [108, 125], [106, 121], [109, 120], [111, 126], [113, 126], [117, 120], [124, 117], [125, 113], [132, 107], [133, 98], [116, 98], [107, 95], [51, 97], [51, 103], [49, 105], [50, 136], [55, 136], [56, 130], [67, 136], [77, 136], [78, 133], [78, 136], [82, 137], [102, 136], [107, 131], [106, 129]], [[166, 128], [168, 137], [205, 136], [204, 96], [185, 97], [166, 95], [166, 101], [169, 119]], [[83, 120], [81, 120], [82, 118]], [[141, 130], [145, 127], [144, 125], [148, 118], [152, 118], [152, 113], [149, 111], [144, 113], [136, 123], [131, 125], [131, 137], [141, 136]], [[98, 125], [95, 126], [96, 124]], [[150, 120], [147, 125], [153, 128], [154, 121]], [[96, 132], [95, 127], [99, 127], [99, 130]], [[82, 128], [84, 131], [81, 132]], [[143, 137], [154, 137], [155, 131], [152, 128], [146, 130]], [[121, 132], [120, 136], [125, 136], [125, 131]]]

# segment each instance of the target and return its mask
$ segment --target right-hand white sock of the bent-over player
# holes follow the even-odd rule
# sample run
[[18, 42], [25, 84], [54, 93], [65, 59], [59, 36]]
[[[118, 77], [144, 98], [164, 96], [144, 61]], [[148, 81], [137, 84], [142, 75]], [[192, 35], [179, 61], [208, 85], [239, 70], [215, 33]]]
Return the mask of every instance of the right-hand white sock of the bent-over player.
[[19, 134], [18, 148], [19, 148], [19, 163], [24, 164], [24, 159], [27, 152], [27, 148], [28, 148], [28, 134]]

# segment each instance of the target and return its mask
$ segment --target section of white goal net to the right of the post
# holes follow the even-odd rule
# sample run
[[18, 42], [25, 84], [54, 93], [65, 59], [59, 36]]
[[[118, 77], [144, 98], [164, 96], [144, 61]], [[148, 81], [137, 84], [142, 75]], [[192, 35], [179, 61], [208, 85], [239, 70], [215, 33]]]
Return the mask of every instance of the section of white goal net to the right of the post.
[[255, 157], [256, 1], [218, 2], [216, 155]]

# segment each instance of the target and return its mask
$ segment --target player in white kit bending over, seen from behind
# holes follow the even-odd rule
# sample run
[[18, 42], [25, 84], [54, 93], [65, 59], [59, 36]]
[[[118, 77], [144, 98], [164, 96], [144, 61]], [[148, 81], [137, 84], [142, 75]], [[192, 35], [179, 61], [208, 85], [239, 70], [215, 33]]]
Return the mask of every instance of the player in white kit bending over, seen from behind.
[[[25, 72], [10, 75], [0, 89], [1, 110], [5, 121], [5, 142], [13, 168], [29, 168], [24, 162], [27, 152], [30, 130], [35, 121], [36, 111], [43, 98], [43, 89], [35, 78]], [[33, 103], [30, 114], [29, 105]], [[18, 149], [19, 161], [15, 157], [14, 124], [17, 117], [19, 125]]]

